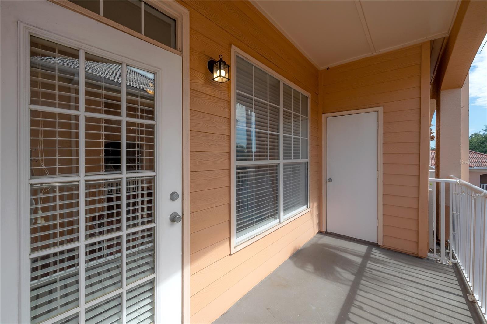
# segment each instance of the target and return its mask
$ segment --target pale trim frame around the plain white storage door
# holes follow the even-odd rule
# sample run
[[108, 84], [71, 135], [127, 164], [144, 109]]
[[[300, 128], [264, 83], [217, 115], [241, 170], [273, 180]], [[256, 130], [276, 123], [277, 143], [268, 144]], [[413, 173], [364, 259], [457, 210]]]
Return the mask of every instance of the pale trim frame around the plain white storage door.
[[[321, 115], [321, 125], [323, 125], [321, 139], [321, 216], [319, 222], [319, 231], [326, 232], [326, 121], [328, 117], [355, 115], [366, 112], [377, 112], [377, 242], [382, 245], [382, 107], [363, 108], [348, 111], [330, 112]], [[354, 190], [351, 190], [354, 192]], [[354, 192], [355, 195], [360, 195], [359, 192]], [[350, 196], [353, 199], [353, 196]], [[351, 202], [352, 203], [352, 202]]]

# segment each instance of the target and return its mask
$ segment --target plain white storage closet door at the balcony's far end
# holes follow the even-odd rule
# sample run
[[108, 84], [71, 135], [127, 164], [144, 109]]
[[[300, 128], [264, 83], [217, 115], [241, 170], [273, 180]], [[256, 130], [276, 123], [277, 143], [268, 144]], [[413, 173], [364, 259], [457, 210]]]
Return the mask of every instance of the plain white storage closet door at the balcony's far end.
[[377, 117], [326, 119], [326, 230], [377, 243]]

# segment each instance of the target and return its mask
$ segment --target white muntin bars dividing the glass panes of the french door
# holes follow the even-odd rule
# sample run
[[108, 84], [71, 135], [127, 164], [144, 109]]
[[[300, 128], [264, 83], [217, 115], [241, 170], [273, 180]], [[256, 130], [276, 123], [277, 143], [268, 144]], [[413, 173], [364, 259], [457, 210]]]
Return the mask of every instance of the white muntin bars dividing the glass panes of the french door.
[[[30, 42], [30, 36], [32, 34], [29, 34], [29, 42]], [[37, 36], [37, 35], [35, 35]], [[49, 41], [53, 41], [55, 43], [58, 43], [56, 40], [51, 40], [49, 37], [46, 36], [38, 36], [42, 39], [46, 39]], [[72, 45], [69, 45], [70, 47], [73, 47]], [[126, 256], [127, 256], [127, 234], [131, 234], [134, 232], [138, 231], [143, 231], [145, 229], [153, 228], [153, 237], [154, 237], [154, 259], [156, 258], [157, 255], [157, 232], [156, 232], [156, 223], [157, 223], [157, 215], [156, 215], [156, 209], [155, 209], [155, 201], [157, 200], [157, 192], [156, 192], [156, 181], [157, 181], [157, 172], [154, 170], [154, 172], [130, 172], [127, 173], [126, 170], [126, 134], [127, 134], [127, 122], [134, 122], [134, 123], [141, 123], [141, 124], [150, 124], [154, 125], [154, 134], [156, 134], [156, 114], [157, 114], [157, 109], [154, 107], [154, 119], [153, 120], [146, 120], [146, 119], [138, 119], [138, 118], [131, 118], [131, 117], [125, 117], [126, 116], [126, 95], [127, 95], [127, 89], [126, 89], [126, 72], [127, 72], [127, 63], [122, 62], [121, 63], [121, 115], [120, 116], [113, 116], [113, 115], [105, 115], [105, 114], [99, 114], [99, 113], [92, 113], [92, 112], [85, 112], [84, 111], [84, 93], [85, 93], [85, 50], [83, 48], [76, 48], [75, 49], [79, 50], [79, 82], [78, 82], [78, 93], [79, 93], [79, 101], [78, 101], [78, 110], [71, 110], [71, 109], [64, 109], [64, 108], [54, 108], [54, 107], [45, 107], [45, 106], [37, 106], [37, 105], [31, 105], [30, 104], [30, 87], [29, 87], [29, 94], [28, 94], [28, 110], [29, 110], [29, 115], [31, 110], [37, 110], [37, 111], [46, 111], [46, 112], [55, 112], [55, 113], [61, 113], [61, 114], [66, 114], [66, 115], [77, 115], [78, 116], [78, 167], [79, 167], [79, 175], [78, 176], [62, 176], [62, 175], [55, 175], [53, 177], [42, 177], [42, 178], [32, 178], [30, 175], [30, 163], [29, 163], [29, 180], [28, 183], [29, 185], [43, 185], [43, 184], [64, 184], [64, 183], [69, 183], [69, 182], [77, 182], [79, 185], [79, 190], [78, 190], [78, 197], [79, 197], [79, 203], [78, 203], [78, 208], [79, 208], [79, 221], [78, 221], [78, 241], [74, 243], [69, 243], [69, 244], [64, 244], [64, 245], [59, 245], [53, 248], [49, 249], [44, 249], [41, 251], [29, 253], [28, 258], [29, 258], [29, 265], [30, 265], [30, 260], [39, 256], [43, 256], [46, 254], [50, 253], [55, 253], [55, 252], [60, 252], [60, 251], [65, 251], [73, 248], [78, 248], [78, 269], [79, 269], [79, 306], [68, 310], [64, 313], [58, 314], [52, 318], [47, 319], [46, 321], [42, 322], [41, 324], [51, 324], [51, 323], [56, 323], [57, 321], [63, 321], [63, 320], [69, 320], [71, 318], [75, 318], [75, 315], [79, 314], [79, 323], [85, 323], [85, 311], [89, 307], [92, 307], [96, 304], [102, 303], [103, 301], [109, 300], [113, 298], [114, 296], [121, 295], [122, 299], [122, 305], [121, 305], [121, 311], [122, 311], [122, 324], [126, 324], [126, 293], [128, 290], [131, 288], [135, 288], [138, 286], [143, 285], [144, 283], [149, 282], [150, 280], [154, 280], [156, 277], [157, 273], [157, 261], [154, 260], [154, 273], [150, 274], [144, 278], [138, 279], [137, 281], [127, 284], [126, 282], [126, 269], [127, 269], [127, 261], [126, 261]], [[30, 53], [30, 48], [28, 47], [26, 49], [28, 53]], [[30, 54], [27, 54], [28, 57], [30, 57]], [[116, 60], [116, 59], [115, 59]], [[133, 66], [131, 64], [131, 66]], [[30, 67], [27, 67], [27, 70], [30, 71]], [[155, 73], [154, 73], [155, 75]], [[30, 79], [29, 76], [27, 76], [28, 79]], [[56, 93], [57, 96], [57, 93]], [[155, 96], [157, 96], [157, 93], [155, 93]], [[154, 96], [154, 105], [156, 104], [157, 100], [155, 99]], [[121, 171], [120, 173], [114, 174], [114, 173], [102, 173], [102, 174], [97, 174], [97, 175], [85, 175], [85, 117], [94, 117], [94, 118], [104, 118], [104, 119], [112, 119], [112, 120], [120, 120], [122, 123], [122, 129], [121, 129]], [[27, 128], [30, 129], [30, 122], [27, 122]], [[154, 167], [156, 165], [156, 143], [154, 143]], [[26, 147], [26, 149], [29, 149], [29, 146]], [[26, 156], [29, 156], [27, 154]], [[127, 229], [126, 226], [126, 220], [127, 220], [127, 207], [126, 207], [126, 186], [127, 186], [127, 180], [130, 179], [137, 179], [137, 178], [146, 178], [146, 177], [153, 177], [154, 182], [153, 182], [153, 202], [154, 202], [154, 208], [152, 209], [153, 213], [153, 222], [150, 224], [145, 224], [137, 227], [131, 227]], [[121, 181], [121, 227], [122, 230], [119, 232], [114, 232], [110, 234], [104, 234], [100, 236], [96, 236], [90, 239], [85, 238], [85, 181], [86, 180], [108, 180], [108, 179], [117, 179]], [[30, 199], [28, 199], [30, 203]], [[30, 205], [27, 207], [27, 210], [29, 210]], [[24, 223], [25, 224], [25, 223]], [[29, 226], [29, 223], [27, 223], [27, 226]], [[30, 229], [28, 229], [30, 231]], [[85, 246], [90, 243], [94, 243], [97, 241], [113, 238], [113, 237], [121, 237], [122, 240], [122, 267], [121, 267], [121, 274], [122, 274], [122, 287], [118, 288], [116, 290], [113, 290], [110, 293], [107, 293], [103, 296], [100, 296], [98, 298], [95, 298], [92, 301], [89, 301], [88, 303], [85, 303]], [[28, 245], [30, 246], [30, 236], [27, 237], [29, 239]], [[25, 239], [25, 237], [21, 237], [21, 239]], [[29, 248], [30, 251], [30, 248]], [[29, 266], [30, 267], [30, 266]], [[30, 269], [30, 268], [29, 268]], [[28, 272], [29, 276], [24, 278], [23, 280], [26, 280], [27, 282], [30, 283], [30, 271]], [[29, 284], [30, 287], [30, 284]], [[157, 289], [154, 289], [154, 305], [155, 301], [157, 300]], [[29, 304], [30, 305], [30, 304]], [[30, 306], [29, 306], [29, 318], [30, 318]]]

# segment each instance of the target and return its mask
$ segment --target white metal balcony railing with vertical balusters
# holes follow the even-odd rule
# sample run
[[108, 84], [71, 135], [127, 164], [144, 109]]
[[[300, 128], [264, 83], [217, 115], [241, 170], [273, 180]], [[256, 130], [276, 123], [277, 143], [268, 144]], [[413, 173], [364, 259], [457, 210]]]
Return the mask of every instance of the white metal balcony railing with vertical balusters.
[[[476, 301], [481, 311], [487, 311], [487, 191], [453, 176], [450, 179], [430, 178], [432, 198], [430, 203], [430, 256], [438, 262], [458, 263], [468, 286], [469, 298]], [[439, 182], [438, 204], [436, 185]], [[449, 207], [445, 196], [450, 197]], [[438, 209], [439, 208], [439, 209]], [[448, 208], [448, 211], [447, 211]], [[438, 210], [438, 213], [436, 212]], [[448, 213], [448, 218], [446, 217]], [[436, 215], [439, 218], [439, 233], [436, 235]], [[446, 225], [448, 223], [448, 234]], [[439, 240], [439, 255], [436, 242]], [[446, 245], [448, 243], [448, 252]], [[431, 244], [430, 244], [431, 246]]]

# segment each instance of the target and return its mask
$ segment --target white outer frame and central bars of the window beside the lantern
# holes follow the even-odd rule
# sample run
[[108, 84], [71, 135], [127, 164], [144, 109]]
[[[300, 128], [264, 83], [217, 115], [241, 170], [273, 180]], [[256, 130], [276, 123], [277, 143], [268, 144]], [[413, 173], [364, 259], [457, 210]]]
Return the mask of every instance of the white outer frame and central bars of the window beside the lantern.
[[[240, 56], [253, 64], [254, 66], [258, 67], [262, 71], [268, 73], [269, 75], [272, 75], [276, 79], [279, 80], [280, 82], [280, 113], [279, 113], [279, 131], [280, 131], [280, 137], [279, 137], [279, 160], [264, 160], [264, 161], [242, 161], [243, 164], [245, 165], [262, 165], [262, 164], [279, 164], [279, 217], [277, 220], [274, 220], [270, 222], [269, 224], [266, 224], [265, 226], [262, 226], [261, 228], [255, 229], [254, 231], [251, 231], [247, 234], [244, 234], [242, 237], [239, 237], [237, 239], [237, 148], [236, 148], [236, 103], [237, 103], [237, 83], [236, 83], [236, 76], [237, 76], [237, 56]], [[235, 45], [232, 45], [232, 50], [231, 50], [231, 71], [230, 75], [231, 78], [233, 78], [231, 82], [231, 113], [230, 113], [230, 197], [231, 197], [231, 213], [230, 213], [230, 254], [233, 254], [244, 247], [252, 244], [253, 242], [261, 239], [267, 234], [270, 234], [274, 232], [275, 230], [279, 229], [280, 227], [286, 225], [287, 223], [293, 221], [294, 219], [308, 213], [311, 211], [311, 193], [310, 193], [310, 162], [311, 162], [311, 152], [310, 152], [310, 121], [311, 121], [311, 94], [294, 84], [293, 82], [289, 81], [288, 79], [284, 78], [281, 76], [279, 73], [273, 71], [272, 69], [269, 69], [262, 63], [260, 63], [258, 60], [250, 56], [249, 54], [245, 53], [244, 51], [240, 50], [237, 48]], [[282, 122], [282, 109], [283, 109], [283, 83], [287, 84], [291, 88], [298, 90], [302, 94], [306, 95], [308, 97], [308, 159], [301, 159], [301, 160], [284, 160], [283, 159], [283, 152], [282, 152], [282, 147], [283, 147], [283, 122]], [[308, 162], [307, 165], [307, 201], [306, 201], [306, 206], [302, 207], [301, 209], [298, 209], [294, 211], [293, 214], [287, 215], [284, 217], [284, 208], [283, 208], [283, 169], [284, 169], [284, 163], [295, 163], [295, 162]]]

